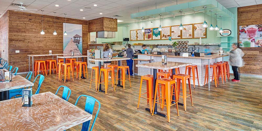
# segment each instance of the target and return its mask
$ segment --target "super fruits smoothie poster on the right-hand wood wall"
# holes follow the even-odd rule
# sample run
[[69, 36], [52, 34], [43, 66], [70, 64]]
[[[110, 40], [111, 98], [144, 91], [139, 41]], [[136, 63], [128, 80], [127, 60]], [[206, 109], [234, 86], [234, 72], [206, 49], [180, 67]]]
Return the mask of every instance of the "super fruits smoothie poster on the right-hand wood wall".
[[262, 47], [262, 25], [239, 26], [239, 42], [242, 47]]

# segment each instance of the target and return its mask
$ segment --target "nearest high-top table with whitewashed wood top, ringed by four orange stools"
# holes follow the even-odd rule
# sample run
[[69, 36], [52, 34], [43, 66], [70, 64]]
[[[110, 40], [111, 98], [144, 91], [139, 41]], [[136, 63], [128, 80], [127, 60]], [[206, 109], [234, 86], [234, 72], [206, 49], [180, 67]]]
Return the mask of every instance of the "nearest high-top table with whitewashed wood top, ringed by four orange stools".
[[[167, 62], [166, 65], [162, 65], [162, 62], [153, 62], [153, 63], [145, 63], [145, 64], [137, 64], [136, 67], [143, 67], [143, 68], [151, 68], [153, 69], [153, 97], [155, 96], [155, 89], [156, 89], [156, 79], [157, 79], [157, 69], [160, 70], [171, 70], [174, 75], [176, 73], [175, 68], [178, 67], [183, 67], [183, 66], [187, 66], [187, 65], [192, 65], [192, 63], [182, 63], [182, 62]], [[174, 92], [172, 92], [174, 94]], [[153, 98], [154, 99], [154, 98]], [[175, 100], [175, 96], [173, 95], [172, 100]], [[173, 103], [173, 101], [172, 101]], [[184, 105], [182, 103], [179, 103], [179, 105]], [[146, 108], [145, 110], [150, 112], [149, 108]], [[154, 114], [158, 114], [160, 116], [166, 117], [165, 114], [157, 112], [157, 103], [155, 103], [155, 110], [154, 110]]]

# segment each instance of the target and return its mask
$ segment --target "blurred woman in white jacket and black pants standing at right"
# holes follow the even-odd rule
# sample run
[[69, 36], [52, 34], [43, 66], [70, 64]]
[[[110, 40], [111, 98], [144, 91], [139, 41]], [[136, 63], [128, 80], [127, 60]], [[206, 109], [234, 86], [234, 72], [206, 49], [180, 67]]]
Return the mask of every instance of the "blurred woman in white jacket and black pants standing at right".
[[232, 66], [232, 70], [234, 73], [234, 79], [232, 79], [232, 81], [240, 81], [239, 77], [238, 77], [238, 72], [237, 72], [237, 68], [238, 67], [243, 67], [244, 66], [244, 61], [242, 59], [242, 57], [244, 56], [244, 52], [241, 50], [241, 48], [239, 47], [239, 43], [233, 43], [232, 44], [232, 48], [229, 52], [228, 55], [229, 57], [229, 64]]

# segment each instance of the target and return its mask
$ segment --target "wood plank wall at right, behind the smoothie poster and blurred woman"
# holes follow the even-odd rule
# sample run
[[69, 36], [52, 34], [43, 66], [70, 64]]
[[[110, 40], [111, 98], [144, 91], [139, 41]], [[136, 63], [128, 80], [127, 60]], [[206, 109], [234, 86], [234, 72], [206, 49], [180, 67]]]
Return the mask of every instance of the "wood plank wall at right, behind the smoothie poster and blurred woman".
[[[262, 4], [245, 6], [237, 8], [237, 28], [243, 25], [258, 25], [262, 24]], [[237, 33], [239, 41], [239, 30]], [[241, 73], [262, 75], [262, 47], [248, 47], [242, 48], [246, 62], [245, 66], [241, 68]]]

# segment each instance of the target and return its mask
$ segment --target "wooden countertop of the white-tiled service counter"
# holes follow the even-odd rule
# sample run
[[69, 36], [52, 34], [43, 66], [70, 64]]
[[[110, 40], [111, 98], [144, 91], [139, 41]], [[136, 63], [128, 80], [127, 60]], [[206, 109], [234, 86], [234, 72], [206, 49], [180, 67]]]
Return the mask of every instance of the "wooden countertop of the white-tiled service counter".
[[[146, 55], [146, 56], [156, 56], [156, 57], [162, 57], [162, 55], [156, 55], [156, 54], [139, 54], [139, 55]], [[183, 56], [172, 56], [172, 55], [167, 55], [167, 57], [176, 57], [176, 58], [194, 58], [194, 59], [215, 59], [215, 58], [220, 58], [220, 57], [225, 57], [228, 55], [223, 55], [221, 56], [220, 54], [211, 54], [211, 55], [205, 55], [204, 57], [183, 57]]]

